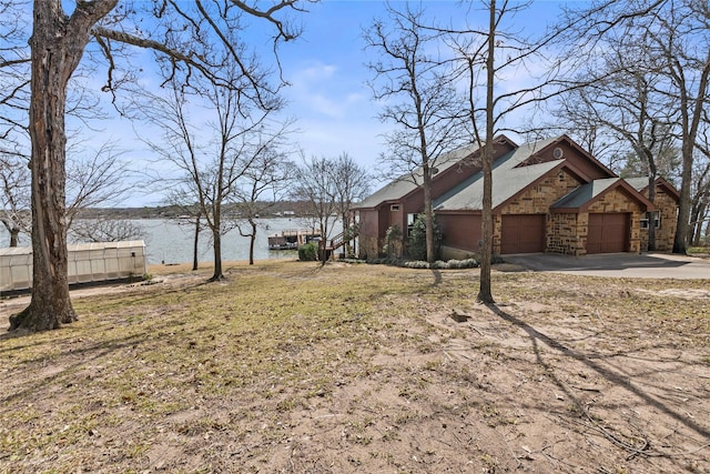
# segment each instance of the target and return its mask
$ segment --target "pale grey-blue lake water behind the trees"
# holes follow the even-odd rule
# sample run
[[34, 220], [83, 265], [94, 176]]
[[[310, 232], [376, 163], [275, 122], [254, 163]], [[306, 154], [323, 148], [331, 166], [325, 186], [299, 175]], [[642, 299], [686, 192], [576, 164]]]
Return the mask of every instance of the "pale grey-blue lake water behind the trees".
[[[179, 221], [168, 219], [139, 219], [131, 222], [143, 229], [149, 264], [192, 262], [194, 235], [192, 224], [181, 224]], [[295, 250], [268, 250], [268, 234], [281, 233], [281, 231], [290, 229], [307, 229], [307, 224], [297, 218], [260, 219], [256, 242], [254, 243], [254, 260], [297, 258]], [[336, 235], [341, 230], [342, 225], [338, 221], [335, 223], [332, 235]], [[223, 235], [222, 261], [248, 260], [248, 242], [250, 239], [241, 236], [236, 229]], [[8, 232], [1, 228], [0, 246], [7, 246], [9, 243]], [[201, 232], [197, 251], [200, 262], [214, 261], [211, 243], [210, 233]], [[22, 235], [20, 245], [31, 245], [27, 235]]]

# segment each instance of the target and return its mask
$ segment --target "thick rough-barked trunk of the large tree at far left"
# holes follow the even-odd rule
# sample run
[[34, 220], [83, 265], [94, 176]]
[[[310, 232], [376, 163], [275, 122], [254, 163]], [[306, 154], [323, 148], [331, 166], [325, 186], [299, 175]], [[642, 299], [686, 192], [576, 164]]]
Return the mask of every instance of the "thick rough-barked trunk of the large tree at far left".
[[[59, 1], [36, 1], [31, 47], [32, 300], [10, 331], [45, 331], [77, 321], [69, 297], [65, 225], [67, 83], [88, 41]], [[77, 24], [74, 24], [77, 27]]]

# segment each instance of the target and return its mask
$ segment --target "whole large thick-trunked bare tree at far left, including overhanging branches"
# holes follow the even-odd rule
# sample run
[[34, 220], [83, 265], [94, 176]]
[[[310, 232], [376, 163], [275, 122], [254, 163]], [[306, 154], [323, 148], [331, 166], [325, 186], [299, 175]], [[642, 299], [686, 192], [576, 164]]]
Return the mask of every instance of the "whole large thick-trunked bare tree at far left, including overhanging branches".
[[[10, 330], [42, 331], [77, 320], [67, 279], [64, 114], [68, 82], [90, 41], [94, 40], [108, 59], [106, 91], [115, 92], [121, 80], [129, 77], [119, 74], [121, 46], [155, 51], [164, 60], [163, 71], [169, 78], [189, 81], [193, 75], [202, 75], [215, 84], [243, 88], [221, 74], [222, 64], [215, 60], [220, 58], [215, 51], [221, 50], [236, 61], [247, 79], [244, 95], [262, 101], [273, 88], [243, 44], [231, 42], [226, 33], [243, 28], [243, 17], [247, 17], [273, 27], [275, 43], [293, 39], [297, 31], [278, 14], [300, 6], [295, 0], [284, 0], [260, 10], [241, 0], [194, 3], [94, 0], [77, 2], [68, 13], [64, 4], [61, 0], [33, 3], [31, 54], [22, 58], [31, 63], [33, 292], [30, 305], [11, 316]], [[152, 20], [142, 23], [144, 18]], [[0, 65], [7, 67], [4, 62]]]

